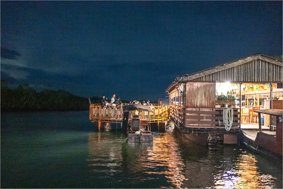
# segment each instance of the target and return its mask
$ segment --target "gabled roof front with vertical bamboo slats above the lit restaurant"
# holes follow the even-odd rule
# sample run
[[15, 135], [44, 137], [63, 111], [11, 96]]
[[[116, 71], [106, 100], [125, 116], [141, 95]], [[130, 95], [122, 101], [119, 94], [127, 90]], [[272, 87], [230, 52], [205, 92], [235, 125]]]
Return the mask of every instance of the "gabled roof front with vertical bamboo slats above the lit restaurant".
[[281, 60], [259, 53], [194, 74], [178, 75], [166, 91], [171, 94], [176, 85], [188, 81], [281, 83], [283, 82], [282, 68]]

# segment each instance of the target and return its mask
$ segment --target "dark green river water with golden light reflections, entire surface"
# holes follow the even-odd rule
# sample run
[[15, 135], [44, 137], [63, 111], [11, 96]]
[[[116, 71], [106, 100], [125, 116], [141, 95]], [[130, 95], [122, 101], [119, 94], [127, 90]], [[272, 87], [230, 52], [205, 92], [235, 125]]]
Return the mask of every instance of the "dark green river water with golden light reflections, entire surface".
[[183, 141], [172, 122], [153, 135], [128, 144], [88, 111], [1, 113], [1, 188], [282, 188], [282, 165], [244, 147]]

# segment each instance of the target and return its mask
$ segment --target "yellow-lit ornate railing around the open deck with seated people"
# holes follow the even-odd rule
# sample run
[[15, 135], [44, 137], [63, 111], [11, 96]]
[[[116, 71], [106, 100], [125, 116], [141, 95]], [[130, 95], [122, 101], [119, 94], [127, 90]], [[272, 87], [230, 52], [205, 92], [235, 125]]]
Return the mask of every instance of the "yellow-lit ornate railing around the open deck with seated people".
[[[153, 104], [153, 106], [150, 106], [149, 108], [154, 112], [149, 113], [139, 111], [139, 118], [150, 120], [150, 122], [169, 120], [170, 105]], [[129, 118], [132, 118], [132, 112], [130, 112]], [[123, 119], [123, 110], [122, 107], [91, 104], [89, 106], [89, 119], [92, 121], [121, 123]]]

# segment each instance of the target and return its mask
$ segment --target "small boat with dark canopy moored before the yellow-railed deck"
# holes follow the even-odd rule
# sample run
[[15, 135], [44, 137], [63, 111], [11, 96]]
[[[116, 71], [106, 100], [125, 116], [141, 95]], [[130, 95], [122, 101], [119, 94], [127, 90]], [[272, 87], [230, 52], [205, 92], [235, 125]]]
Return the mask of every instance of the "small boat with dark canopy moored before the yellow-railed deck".
[[142, 110], [153, 112], [148, 106], [131, 104], [123, 106], [122, 132], [127, 133], [127, 142], [153, 142], [153, 135], [150, 130], [150, 120], [140, 119], [139, 115], [129, 118], [129, 112]]

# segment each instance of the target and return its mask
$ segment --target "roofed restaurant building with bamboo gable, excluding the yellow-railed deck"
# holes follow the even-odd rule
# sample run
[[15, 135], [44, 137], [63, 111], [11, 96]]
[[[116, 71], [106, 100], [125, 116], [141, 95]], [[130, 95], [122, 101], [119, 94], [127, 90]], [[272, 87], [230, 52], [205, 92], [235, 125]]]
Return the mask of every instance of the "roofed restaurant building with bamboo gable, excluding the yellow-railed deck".
[[[282, 110], [282, 60], [255, 54], [194, 74], [178, 75], [166, 91], [171, 119], [183, 138], [207, 145], [214, 135], [224, 144], [239, 144], [241, 126], [249, 125], [252, 119], [258, 121], [256, 110], [273, 106]], [[244, 107], [248, 108], [246, 117], [242, 114]], [[244, 123], [244, 118], [249, 121]], [[272, 130], [276, 123], [268, 121], [265, 126]]]

